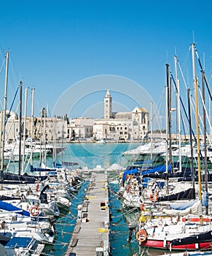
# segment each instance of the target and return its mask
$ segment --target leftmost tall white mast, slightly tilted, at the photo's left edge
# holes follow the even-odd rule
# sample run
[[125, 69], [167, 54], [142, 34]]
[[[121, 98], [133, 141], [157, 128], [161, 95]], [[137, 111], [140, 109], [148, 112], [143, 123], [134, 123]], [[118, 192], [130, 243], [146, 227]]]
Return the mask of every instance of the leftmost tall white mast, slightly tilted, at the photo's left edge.
[[1, 111], [1, 181], [3, 181], [3, 169], [4, 169], [4, 143], [5, 143], [5, 121], [6, 121], [6, 111], [7, 111], [7, 84], [8, 84], [8, 67], [9, 67], [9, 52], [6, 53], [6, 72], [5, 72], [5, 83], [4, 83], [4, 110]]

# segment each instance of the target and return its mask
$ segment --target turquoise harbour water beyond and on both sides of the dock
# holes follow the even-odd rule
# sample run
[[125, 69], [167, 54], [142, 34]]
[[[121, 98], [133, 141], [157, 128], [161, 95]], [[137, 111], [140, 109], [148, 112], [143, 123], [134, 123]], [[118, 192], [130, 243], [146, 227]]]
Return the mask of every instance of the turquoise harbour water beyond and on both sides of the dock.
[[[82, 168], [94, 168], [96, 165], [109, 167], [114, 163], [125, 165], [125, 159], [122, 159], [122, 152], [136, 148], [138, 143], [71, 143], [66, 145], [66, 150], [63, 154], [59, 154], [58, 161], [78, 162]], [[117, 176], [114, 175], [114, 178]], [[71, 205], [71, 213], [58, 220], [56, 228], [58, 230], [57, 241], [55, 246], [48, 246], [46, 253], [48, 255], [64, 255], [67, 245], [71, 238], [71, 232], [74, 230], [76, 222], [76, 207], [82, 203], [85, 196], [85, 187], [79, 190], [74, 197]], [[111, 191], [118, 191], [118, 184], [110, 184]], [[136, 238], [127, 242], [128, 229], [126, 219], [122, 216], [121, 202], [117, 199], [114, 193], [110, 193], [110, 209], [112, 214], [111, 221], [111, 255], [133, 255], [138, 252], [138, 243]]]

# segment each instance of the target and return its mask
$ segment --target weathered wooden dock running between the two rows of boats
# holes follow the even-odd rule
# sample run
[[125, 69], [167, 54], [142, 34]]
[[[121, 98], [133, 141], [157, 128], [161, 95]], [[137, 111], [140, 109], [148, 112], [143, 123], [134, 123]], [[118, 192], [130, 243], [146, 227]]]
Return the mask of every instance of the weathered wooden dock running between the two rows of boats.
[[66, 256], [109, 255], [109, 192], [106, 173], [94, 172]]

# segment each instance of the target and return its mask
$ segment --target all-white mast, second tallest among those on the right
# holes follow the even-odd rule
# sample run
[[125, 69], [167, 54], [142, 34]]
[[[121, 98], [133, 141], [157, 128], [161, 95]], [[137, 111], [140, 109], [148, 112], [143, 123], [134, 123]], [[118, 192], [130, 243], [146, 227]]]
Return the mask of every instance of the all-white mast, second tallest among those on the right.
[[181, 171], [181, 113], [180, 113], [180, 86], [178, 80], [178, 70], [177, 70], [177, 57], [174, 56], [174, 63], [175, 63], [175, 74], [176, 74], [176, 87], [177, 87], [177, 116], [178, 116], [178, 153], [179, 153], [179, 170]]

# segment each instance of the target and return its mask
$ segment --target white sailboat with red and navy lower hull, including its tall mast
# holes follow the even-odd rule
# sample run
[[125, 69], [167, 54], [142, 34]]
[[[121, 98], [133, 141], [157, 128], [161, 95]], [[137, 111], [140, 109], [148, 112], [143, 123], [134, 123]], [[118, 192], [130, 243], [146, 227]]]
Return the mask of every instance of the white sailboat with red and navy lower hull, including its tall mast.
[[199, 199], [189, 200], [187, 202], [187, 207], [184, 206], [183, 209], [181, 208], [181, 211], [170, 211], [168, 209], [164, 209], [164, 217], [161, 216], [154, 221], [145, 222], [144, 219], [142, 221], [140, 218], [138, 223], [138, 230], [136, 232], [136, 239], [141, 246], [148, 248], [170, 249], [170, 251], [195, 251], [197, 249], [211, 249], [212, 245], [211, 217], [208, 215], [203, 217], [197, 78], [195, 75], [194, 56], [195, 45], [192, 44]]

